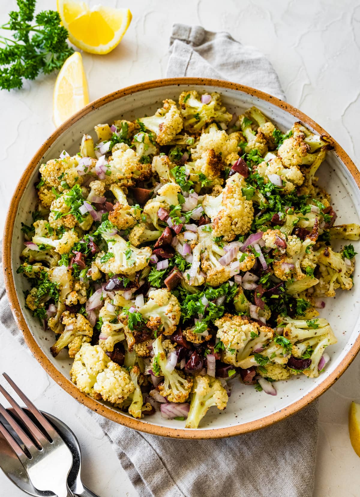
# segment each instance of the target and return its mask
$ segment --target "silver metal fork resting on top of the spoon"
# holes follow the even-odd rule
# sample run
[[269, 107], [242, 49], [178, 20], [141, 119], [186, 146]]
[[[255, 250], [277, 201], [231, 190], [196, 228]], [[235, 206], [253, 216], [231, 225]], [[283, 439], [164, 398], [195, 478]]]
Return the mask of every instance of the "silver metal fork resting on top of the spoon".
[[0, 385], [0, 392], [13, 407], [16, 418], [11, 416], [1, 404], [0, 414], [19, 437], [22, 445], [20, 446], [0, 422], [2, 436], [19, 458], [36, 489], [53, 492], [57, 497], [74, 497], [67, 483], [73, 465], [73, 456], [69, 447], [11, 378], [6, 373], [2, 374], [42, 427], [41, 431]]

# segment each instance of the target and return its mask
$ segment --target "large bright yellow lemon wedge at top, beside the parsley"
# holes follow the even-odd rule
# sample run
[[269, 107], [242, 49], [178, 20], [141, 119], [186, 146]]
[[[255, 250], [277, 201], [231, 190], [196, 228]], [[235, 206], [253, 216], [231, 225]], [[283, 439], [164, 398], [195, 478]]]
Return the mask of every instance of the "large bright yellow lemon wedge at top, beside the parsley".
[[84, 1], [57, 0], [57, 8], [69, 40], [91, 54], [107, 54], [121, 41], [131, 22], [128, 8], [95, 5]]

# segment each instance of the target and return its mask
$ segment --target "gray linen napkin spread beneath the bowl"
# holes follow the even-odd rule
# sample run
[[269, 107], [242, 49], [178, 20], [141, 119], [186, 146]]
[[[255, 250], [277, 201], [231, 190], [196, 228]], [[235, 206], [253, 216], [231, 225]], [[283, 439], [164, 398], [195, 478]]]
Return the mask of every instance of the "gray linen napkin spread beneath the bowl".
[[[228, 79], [283, 98], [277, 76], [264, 55], [227, 33], [176, 24], [170, 51], [168, 77]], [[0, 323], [24, 344], [9, 309], [2, 271]], [[198, 441], [147, 435], [88, 412], [109, 438], [141, 497], [312, 496], [317, 402], [260, 431]]]

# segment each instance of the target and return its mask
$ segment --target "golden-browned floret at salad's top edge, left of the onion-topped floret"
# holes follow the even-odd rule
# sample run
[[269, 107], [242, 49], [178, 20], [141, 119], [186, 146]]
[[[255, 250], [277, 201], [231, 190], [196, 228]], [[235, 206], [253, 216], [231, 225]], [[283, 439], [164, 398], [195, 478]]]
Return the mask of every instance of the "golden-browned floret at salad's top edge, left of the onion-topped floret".
[[146, 129], [156, 134], [159, 145], [166, 145], [182, 130], [182, 117], [174, 100], [164, 100], [162, 108], [154, 116], [139, 119]]

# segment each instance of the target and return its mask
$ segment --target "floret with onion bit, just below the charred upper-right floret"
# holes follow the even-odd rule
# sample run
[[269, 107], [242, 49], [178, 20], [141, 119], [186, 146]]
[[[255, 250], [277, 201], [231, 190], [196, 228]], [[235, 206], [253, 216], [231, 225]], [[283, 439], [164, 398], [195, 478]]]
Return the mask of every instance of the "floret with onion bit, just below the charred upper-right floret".
[[300, 186], [304, 182], [304, 176], [300, 169], [296, 166], [284, 167], [279, 157], [262, 162], [256, 166], [256, 171], [264, 178], [265, 184], [270, 181], [270, 183], [277, 185], [280, 178], [283, 183], [281, 193], [284, 195], [288, 195], [296, 186]]

